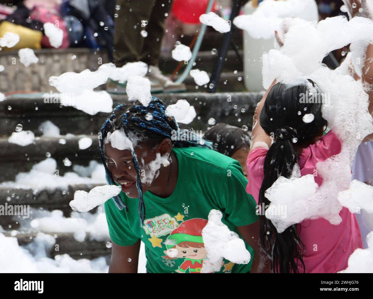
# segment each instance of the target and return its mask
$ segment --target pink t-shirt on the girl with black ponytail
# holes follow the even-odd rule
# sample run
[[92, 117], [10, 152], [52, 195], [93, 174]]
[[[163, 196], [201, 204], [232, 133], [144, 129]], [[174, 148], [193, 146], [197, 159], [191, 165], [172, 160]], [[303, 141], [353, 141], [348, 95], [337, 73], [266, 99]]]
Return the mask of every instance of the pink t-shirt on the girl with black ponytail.
[[[264, 178], [264, 159], [267, 149], [257, 147], [247, 157], [248, 184], [247, 193], [258, 202], [259, 190]], [[315, 144], [303, 149], [298, 158], [301, 175], [313, 174], [316, 163], [341, 152], [341, 143], [336, 135], [329, 131]], [[322, 178], [315, 176], [315, 182], [322, 184]], [[305, 245], [303, 262], [306, 273], [335, 273], [347, 268], [348, 258], [357, 248], [363, 248], [360, 229], [354, 214], [347, 208], [339, 212], [342, 222], [330, 224], [324, 218], [304, 220], [298, 224], [298, 234]], [[317, 251], [314, 251], [316, 248]], [[300, 263], [299, 263], [300, 264]], [[298, 266], [300, 272], [301, 267]]]

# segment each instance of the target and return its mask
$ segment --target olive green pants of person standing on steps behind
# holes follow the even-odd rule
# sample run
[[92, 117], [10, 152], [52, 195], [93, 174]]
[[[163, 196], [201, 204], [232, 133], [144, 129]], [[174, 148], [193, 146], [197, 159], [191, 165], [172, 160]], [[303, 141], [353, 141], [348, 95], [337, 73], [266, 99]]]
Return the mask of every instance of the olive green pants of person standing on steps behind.
[[[114, 18], [115, 65], [120, 67], [136, 61], [158, 65], [164, 20], [172, 7], [172, 1], [116, 0], [116, 4], [120, 9], [115, 10], [118, 17]], [[141, 27], [142, 20], [148, 21], [145, 27]], [[141, 35], [142, 30], [147, 32], [147, 37]]]

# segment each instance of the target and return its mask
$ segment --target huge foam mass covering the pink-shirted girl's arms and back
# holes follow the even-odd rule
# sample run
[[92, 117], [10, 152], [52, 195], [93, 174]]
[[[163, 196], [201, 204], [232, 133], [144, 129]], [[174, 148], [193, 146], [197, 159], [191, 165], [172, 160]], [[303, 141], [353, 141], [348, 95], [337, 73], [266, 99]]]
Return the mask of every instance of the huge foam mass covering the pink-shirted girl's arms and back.
[[[304, 196], [304, 200], [289, 196], [292, 193], [288, 191], [286, 194], [289, 198], [283, 198], [280, 193], [276, 193], [278, 198], [274, 198], [268, 193], [277, 205], [286, 204], [288, 208], [289, 219], [275, 219], [278, 221], [275, 225], [283, 229], [286, 222], [290, 224], [295, 219], [297, 221], [294, 223], [299, 223], [304, 219], [317, 218], [325, 218], [331, 224], [338, 225], [341, 222], [339, 212], [342, 205], [337, 196], [340, 191], [349, 188], [351, 166], [357, 148], [365, 136], [373, 133], [373, 125], [372, 116], [367, 109], [369, 98], [363, 84], [361, 80], [355, 81], [350, 76], [348, 66], [353, 60], [354, 51], [336, 70], [322, 65], [322, 59], [332, 50], [350, 43], [367, 43], [373, 36], [373, 22], [359, 17], [347, 21], [345, 17], [338, 16], [327, 18], [318, 24], [301, 19], [287, 19], [284, 23], [286, 32], [282, 32], [285, 38], [283, 47], [263, 55], [263, 86], [268, 88], [276, 79], [289, 86], [306, 84], [310, 92], [321, 94], [322, 116], [327, 121], [328, 128], [341, 142], [341, 152], [316, 164], [314, 175], [322, 178], [322, 184], [314, 194], [310, 192], [309, 197]], [[317, 87], [311, 88], [307, 79], [313, 80]], [[332, 145], [324, 146], [327, 150]], [[284, 192], [295, 188], [305, 191], [311, 181], [301, 183], [281, 178], [270, 189], [273, 192], [276, 192], [276, 188]], [[281, 186], [281, 182], [285, 185]], [[368, 192], [368, 189], [364, 190]], [[362, 191], [359, 194], [363, 196]], [[369, 193], [364, 194], [367, 196]], [[293, 215], [293, 211], [298, 215]]]

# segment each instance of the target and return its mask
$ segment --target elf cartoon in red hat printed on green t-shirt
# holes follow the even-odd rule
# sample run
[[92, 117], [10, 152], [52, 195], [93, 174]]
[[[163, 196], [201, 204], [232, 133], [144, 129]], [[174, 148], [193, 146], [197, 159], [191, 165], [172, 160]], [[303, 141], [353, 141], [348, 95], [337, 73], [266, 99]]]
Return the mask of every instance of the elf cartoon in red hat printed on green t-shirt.
[[206, 219], [193, 218], [182, 222], [178, 228], [167, 237], [164, 250], [166, 259], [184, 258], [184, 262], [175, 270], [178, 273], [200, 273], [206, 249], [202, 240], [202, 229], [207, 224]]

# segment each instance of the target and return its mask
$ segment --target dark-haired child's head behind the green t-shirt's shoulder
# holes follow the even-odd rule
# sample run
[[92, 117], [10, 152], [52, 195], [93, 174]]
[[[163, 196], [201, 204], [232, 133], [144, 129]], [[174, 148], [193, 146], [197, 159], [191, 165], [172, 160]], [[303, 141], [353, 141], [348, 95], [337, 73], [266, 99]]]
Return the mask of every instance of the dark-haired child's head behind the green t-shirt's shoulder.
[[246, 159], [251, 146], [247, 131], [232, 125], [216, 124], [204, 134], [203, 138], [212, 141], [214, 149], [219, 153], [237, 160], [247, 177]]

